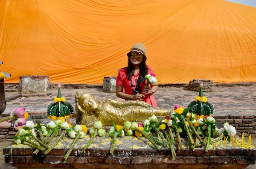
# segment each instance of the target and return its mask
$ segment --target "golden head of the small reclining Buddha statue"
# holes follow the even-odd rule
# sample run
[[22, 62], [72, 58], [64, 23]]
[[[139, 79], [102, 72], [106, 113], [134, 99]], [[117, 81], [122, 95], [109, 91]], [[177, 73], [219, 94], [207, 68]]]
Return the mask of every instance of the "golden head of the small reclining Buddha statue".
[[96, 112], [99, 109], [98, 100], [88, 92], [76, 92], [76, 104], [77, 103], [86, 112]]

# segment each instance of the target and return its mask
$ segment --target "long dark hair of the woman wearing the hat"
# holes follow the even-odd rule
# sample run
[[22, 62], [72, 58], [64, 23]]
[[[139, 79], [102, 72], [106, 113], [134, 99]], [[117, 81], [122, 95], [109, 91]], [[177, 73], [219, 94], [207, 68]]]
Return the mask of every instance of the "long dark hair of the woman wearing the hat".
[[[131, 55], [130, 55], [131, 57]], [[134, 75], [134, 66], [131, 63], [130, 57], [128, 57], [128, 66], [126, 67], [126, 76], [129, 80], [131, 80], [131, 77]], [[145, 75], [148, 74], [148, 67], [146, 65], [146, 57], [143, 57], [142, 62], [140, 63], [140, 75], [139, 75], [139, 82], [145, 82]]]

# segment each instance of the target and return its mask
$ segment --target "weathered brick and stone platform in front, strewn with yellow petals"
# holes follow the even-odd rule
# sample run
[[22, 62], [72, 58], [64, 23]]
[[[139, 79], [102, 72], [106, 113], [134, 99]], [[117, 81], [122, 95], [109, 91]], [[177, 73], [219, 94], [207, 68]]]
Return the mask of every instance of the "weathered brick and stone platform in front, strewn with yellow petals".
[[[218, 146], [215, 150], [205, 152], [196, 148], [194, 152], [183, 148], [172, 160], [171, 151], [160, 147], [157, 151], [145, 138], [122, 137], [116, 141], [114, 155], [109, 153], [111, 137], [97, 137], [93, 144], [81, 154], [89, 136], [77, 141], [67, 160], [63, 163], [65, 153], [73, 139], [64, 137], [47, 156], [38, 153], [26, 145], [9, 145], [3, 149], [5, 162], [12, 163], [18, 169], [28, 168], [86, 168], [86, 169], [243, 169], [256, 162], [256, 149], [226, 149]], [[55, 138], [56, 140], [56, 138]], [[54, 143], [55, 141], [52, 141]], [[227, 142], [228, 143], [228, 142]], [[186, 143], [185, 143], [186, 144]]]

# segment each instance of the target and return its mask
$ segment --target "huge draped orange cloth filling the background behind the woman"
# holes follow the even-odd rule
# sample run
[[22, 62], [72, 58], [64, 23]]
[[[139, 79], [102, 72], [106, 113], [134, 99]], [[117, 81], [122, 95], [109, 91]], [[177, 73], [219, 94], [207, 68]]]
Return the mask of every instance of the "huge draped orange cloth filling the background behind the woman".
[[158, 83], [256, 81], [256, 8], [224, 0], [1, 0], [1, 71], [103, 83], [147, 48]]

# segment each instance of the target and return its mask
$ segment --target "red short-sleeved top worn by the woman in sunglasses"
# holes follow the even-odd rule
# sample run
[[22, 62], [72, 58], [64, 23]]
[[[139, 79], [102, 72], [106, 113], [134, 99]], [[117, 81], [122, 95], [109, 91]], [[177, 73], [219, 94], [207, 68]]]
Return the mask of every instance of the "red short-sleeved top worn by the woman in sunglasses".
[[[148, 74], [151, 74], [151, 73], [155, 74], [154, 70], [150, 66], [147, 66], [147, 67], [148, 67]], [[136, 76], [138, 74], [139, 74], [139, 72], [134, 75]], [[133, 95], [134, 89], [137, 84], [138, 77], [139, 76], [137, 76], [137, 77], [132, 76], [131, 81], [130, 81], [130, 80], [128, 80], [128, 78], [126, 76], [126, 69], [125, 68], [120, 69], [118, 72], [118, 75], [116, 77], [116, 85], [123, 86], [125, 88], [126, 94]], [[142, 94], [142, 91], [144, 90], [145, 85], [147, 84], [147, 81], [148, 80], [145, 80], [145, 83], [140, 83], [140, 88], [139, 88], [140, 94]], [[150, 84], [149, 86], [152, 87], [153, 85]], [[143, 97], [143, 101], [145, 101], [148, 104], [151, 104], [153, 107], [157, 107], [157, 102], [154, 99], [153, 95], [145, 95], [145, 97]]]

